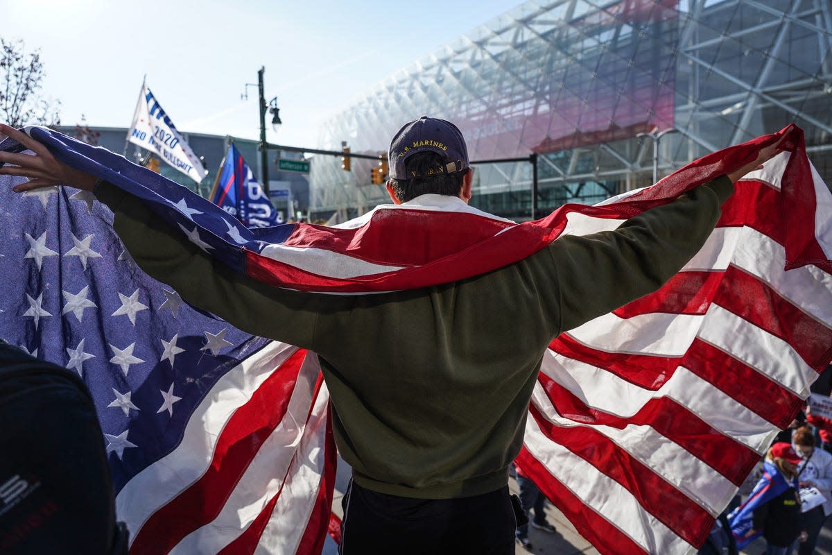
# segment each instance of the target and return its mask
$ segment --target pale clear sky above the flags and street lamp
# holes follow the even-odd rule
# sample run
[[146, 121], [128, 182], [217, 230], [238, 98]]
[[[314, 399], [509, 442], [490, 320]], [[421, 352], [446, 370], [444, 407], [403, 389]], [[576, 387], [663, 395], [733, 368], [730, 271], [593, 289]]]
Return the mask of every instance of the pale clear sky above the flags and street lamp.
[[265, 66], [269, 141], [314, 146], [362, 92], [520, 3], [0, 0], [0, 37], [41, 49], [64, 125], [129, 126], [146, 74], [181, 131], [256, 139], [257, 88], [240, 94]]

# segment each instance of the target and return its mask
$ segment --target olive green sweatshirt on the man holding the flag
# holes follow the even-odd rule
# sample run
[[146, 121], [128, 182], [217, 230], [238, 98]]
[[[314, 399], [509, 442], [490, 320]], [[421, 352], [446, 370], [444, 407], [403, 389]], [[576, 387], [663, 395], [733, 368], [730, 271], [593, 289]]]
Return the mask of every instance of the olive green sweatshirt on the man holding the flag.
[[376, 295], [263, 285], [212, 260], [135, 197], [106, 183], [96, 192], [149, 275], [240, 330], [319, 354], [335, 440], [357, 483], [453, 498], [507, 483], [552, 339], [676, 274], [733, 186], [720, 177], [615, 231], [562, 236], [488, 274]]

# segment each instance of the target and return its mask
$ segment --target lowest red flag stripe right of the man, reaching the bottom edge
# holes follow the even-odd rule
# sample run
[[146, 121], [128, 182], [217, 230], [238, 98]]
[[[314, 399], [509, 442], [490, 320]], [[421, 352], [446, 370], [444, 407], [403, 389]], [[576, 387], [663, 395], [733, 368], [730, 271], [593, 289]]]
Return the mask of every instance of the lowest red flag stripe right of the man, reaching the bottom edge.
[[522, 472], [537, 484], [552, 503], [569, 519], [577, 533], [601, 553], [612, 555], [648, 555], [632, 538], [572, 493], [544, 467], [525, 447], [520, 450], [517, 463]]

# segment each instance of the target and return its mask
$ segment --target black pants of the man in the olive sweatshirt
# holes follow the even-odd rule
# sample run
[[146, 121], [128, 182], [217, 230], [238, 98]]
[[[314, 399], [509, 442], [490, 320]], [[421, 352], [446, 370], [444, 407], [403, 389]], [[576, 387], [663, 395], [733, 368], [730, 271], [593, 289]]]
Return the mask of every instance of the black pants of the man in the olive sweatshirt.
[[342, 505], [341, 555], [514, 553], [517, 521], [508, 486], [470, 498], [412, 499], [350, 481]]

